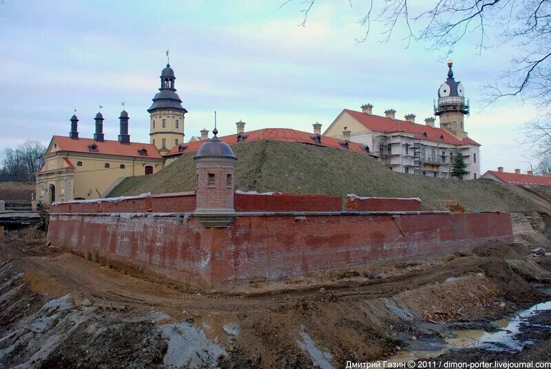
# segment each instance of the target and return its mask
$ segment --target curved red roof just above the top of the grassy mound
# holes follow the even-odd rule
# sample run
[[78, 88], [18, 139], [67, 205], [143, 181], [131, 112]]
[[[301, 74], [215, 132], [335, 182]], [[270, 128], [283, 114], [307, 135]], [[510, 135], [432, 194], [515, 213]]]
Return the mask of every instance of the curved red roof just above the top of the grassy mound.
[[[314, 134], [311, 134], [309, 132], [304, 132], [304, 131], [297, 131], [296, 129], [264, 128], [264, 129], [257, 129], [256, 131], [245, 132], [242, 135], [247, 136], [247, 138], [245, 138], [245, 142], [247, 143], [253, 142], [256, 140], [278, 140], [278, 141], [286, 141], [291, 143], [305, 143], [305, 144], [322, 146], [322, 147], [335, 147], [335, 149], [344, 150], [344, 147], [340, 145], [340, 143], [344, 142], [342, 140], [337, 140], [337, 138], [333, 138], [333, 137], [320, 136], [321, 143], [317, 144], [312, 138]], [[220, 140], [227, 143], [228, 145], [233, 145], [234, 143], [237, 143], [237, 136], [238, 136], [237, 134], [222, 136], [220, 137]], [[185, 143], [181, 145], [181, 146], [187, 146], [187, 148], [183, 152], [178, 152], [178, 146], [176, 146], [173, 149], [171, 149], [167, 154], [165, 154], [165, 156], [185, 154], [187, 152], [197, 151], [200, 145], [202, 145], [202, 143], [203, 143], [202, 141]], [[349, 142], [349, 151], [357, 151], [357, 152], [362, 152], [366, 154], [366, 151], [362, 148], [362, 145], [359, 143]]]

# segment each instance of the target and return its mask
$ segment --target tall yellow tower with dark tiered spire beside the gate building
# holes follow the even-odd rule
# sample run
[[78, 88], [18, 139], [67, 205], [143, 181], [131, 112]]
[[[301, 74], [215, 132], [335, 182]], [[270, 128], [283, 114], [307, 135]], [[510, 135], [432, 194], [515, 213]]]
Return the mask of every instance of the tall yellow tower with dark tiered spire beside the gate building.
[[184, 141], [184, 114], [182, 101], [174, 83], [174, 70], [167, 67], [160, 72], [160, 89], [153, 98], [149, 112], [149, 143], [152, 143], [163, 154]]

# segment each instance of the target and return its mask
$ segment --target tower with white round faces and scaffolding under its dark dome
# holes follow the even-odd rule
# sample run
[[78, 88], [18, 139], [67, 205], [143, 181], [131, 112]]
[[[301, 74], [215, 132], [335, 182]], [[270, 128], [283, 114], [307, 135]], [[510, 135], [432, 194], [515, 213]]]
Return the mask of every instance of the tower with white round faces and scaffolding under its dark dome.
[[469, 102], [465, 99], [463, 84], [453, 78], [452, 61], [448, 61], [448, 78], [438, 90], [438, 104], [435, 115], [440, 118], [440, 128], [446, 129], [457, 138], [466, 138], [465, 114], [469, 114]]

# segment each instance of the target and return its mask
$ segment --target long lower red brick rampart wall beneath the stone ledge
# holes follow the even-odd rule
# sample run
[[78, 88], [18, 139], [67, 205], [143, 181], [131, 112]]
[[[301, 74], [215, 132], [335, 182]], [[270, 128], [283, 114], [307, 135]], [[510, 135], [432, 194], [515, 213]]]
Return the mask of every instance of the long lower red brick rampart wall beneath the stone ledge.
[[48, 239], [220, 287], [512, 242], [512, 230], [508, 213], [247, 215], [218, 229], [176, 215], [52, 213]]

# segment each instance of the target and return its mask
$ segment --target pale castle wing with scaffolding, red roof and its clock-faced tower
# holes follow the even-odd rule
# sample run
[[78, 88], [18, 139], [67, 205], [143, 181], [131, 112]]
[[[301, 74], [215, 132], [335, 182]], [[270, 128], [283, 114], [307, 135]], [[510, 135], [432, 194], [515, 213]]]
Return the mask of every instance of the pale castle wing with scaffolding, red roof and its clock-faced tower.
[[395, 109], [386, 109], [384, 116], [377, 116], [373, 105], [365, 104], [361, 112], [344, 109], [324, 136], [365, 145], [393, 171], [437, 178], [450, 178], [453, 159], [461, 154], [467, 164], [466, 178], [479, 178], [480, 144], [465, 131], [469, 103], [463, 84], [453, 77], [452, 65], [448, 61], [448, 78], [438, 89], [434, 105], [440, 127], [435, 127], [433, 117], [426, 118], [424, 125], [415, 123], [415, 114], [397, 119]]

